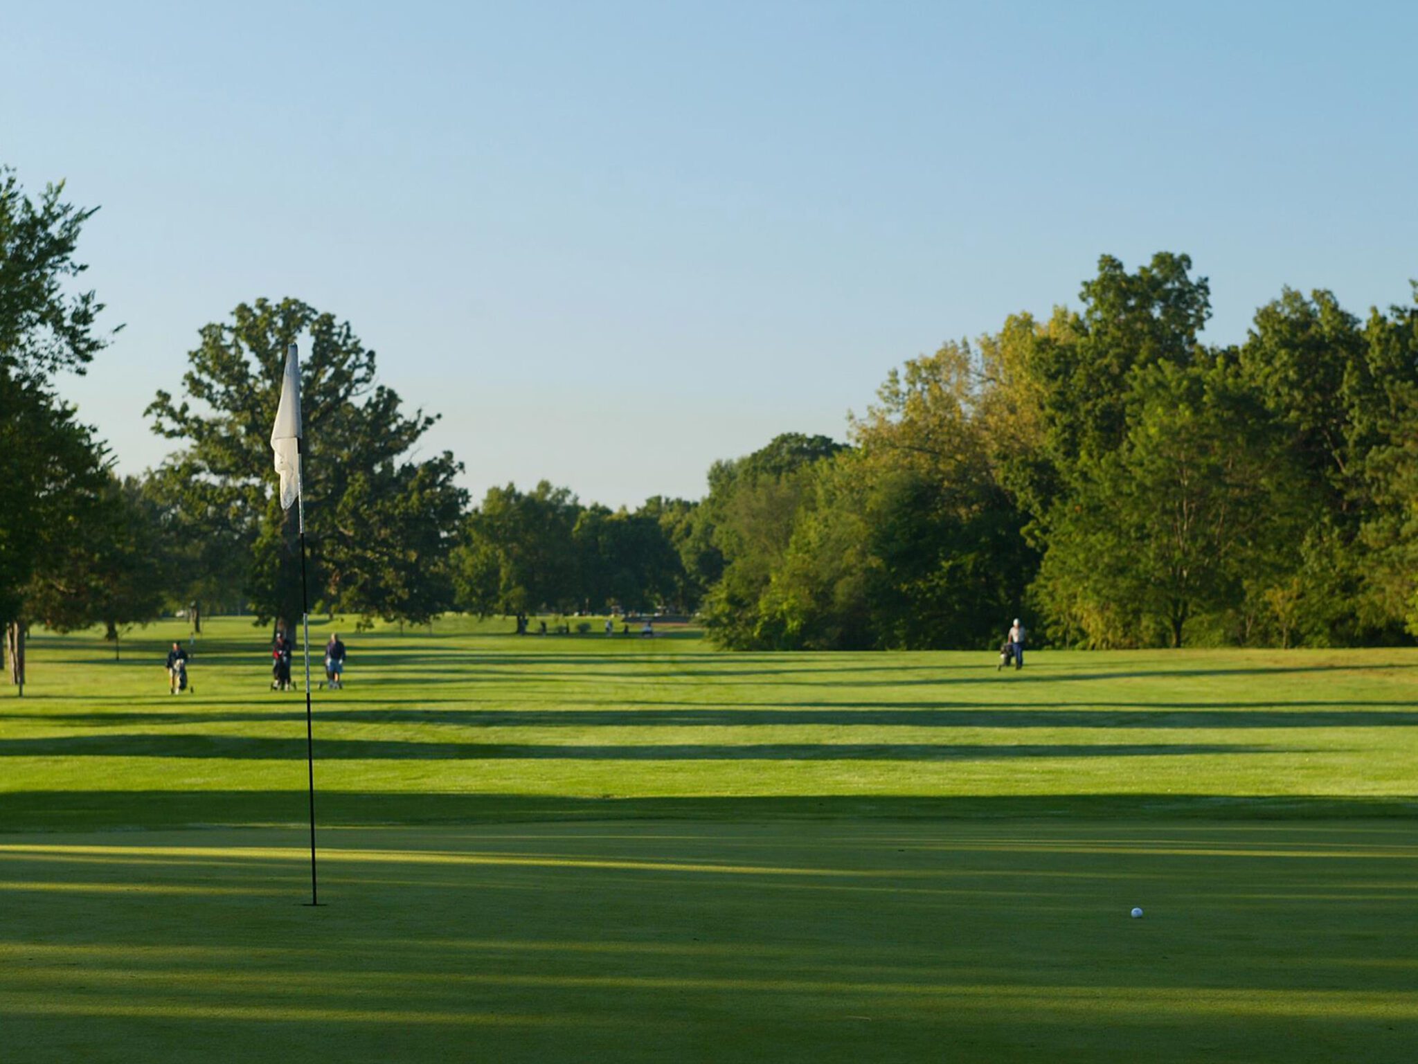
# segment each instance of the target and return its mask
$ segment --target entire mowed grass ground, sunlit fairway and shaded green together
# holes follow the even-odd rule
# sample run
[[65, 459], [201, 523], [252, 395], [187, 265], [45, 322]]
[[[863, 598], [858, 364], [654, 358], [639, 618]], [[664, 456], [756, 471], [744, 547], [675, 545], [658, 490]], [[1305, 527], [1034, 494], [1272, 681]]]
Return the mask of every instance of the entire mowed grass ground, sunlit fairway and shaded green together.
[[37, 638], [0, 1060], [1415, 1055], [1418, 651], [502, 627], [345, 633], [318, 909], [262, 633], [211, 626], [180, 698], [176, 626]]

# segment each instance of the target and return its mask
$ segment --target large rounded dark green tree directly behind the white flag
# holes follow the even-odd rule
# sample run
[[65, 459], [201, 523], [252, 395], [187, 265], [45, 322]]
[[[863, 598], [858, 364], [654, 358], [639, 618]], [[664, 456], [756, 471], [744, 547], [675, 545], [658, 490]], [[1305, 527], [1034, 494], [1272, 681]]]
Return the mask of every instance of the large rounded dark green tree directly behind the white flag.
[[[159, 392], [147, 409], [155, 431], [184, 444], [160, 477], [169, 494], [183, 482], [191, 535], [210, 533], [250, 559], [244, 583], [257, 616], [299, 617], [296, 514], [274, 499], [269, 448], [285, 349], [296, 342], [311, 607], [421, 620], [440, 602], [445, 577], [427, 552], [438, 555], [455, 532], [461, 467], [447, 453], [408, 457], [437, 417], [403, 411], [349, 322], [299, 299], [257, 299], [203, 326], [186, 394]], [[398, 536], [417, 539], [413, 559], [390, 549]], [[421, 579], [430, 586], [415, 586]]]

